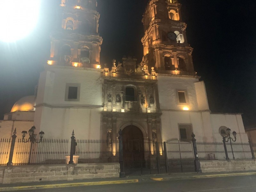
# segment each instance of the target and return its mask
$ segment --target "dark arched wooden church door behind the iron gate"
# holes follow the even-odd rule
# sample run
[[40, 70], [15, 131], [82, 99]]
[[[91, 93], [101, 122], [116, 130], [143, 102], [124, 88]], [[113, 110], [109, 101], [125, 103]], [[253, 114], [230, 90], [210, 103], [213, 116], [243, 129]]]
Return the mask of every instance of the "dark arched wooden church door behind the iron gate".
[[124, 169], [128, 175], [138, 174], [144, 166], [143, 133], [134, 125], [123, 129]]

